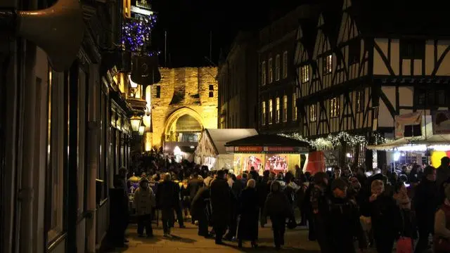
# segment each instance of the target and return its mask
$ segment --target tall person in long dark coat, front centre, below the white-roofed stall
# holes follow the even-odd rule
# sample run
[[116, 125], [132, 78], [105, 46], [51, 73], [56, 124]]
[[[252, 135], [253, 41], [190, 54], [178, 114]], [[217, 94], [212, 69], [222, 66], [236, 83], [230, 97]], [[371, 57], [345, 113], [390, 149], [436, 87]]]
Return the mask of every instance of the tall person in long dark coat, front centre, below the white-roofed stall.
[[221, 245], [222, 237], [231, 216], [231, 189], [226, 182], [224, 171], [217, 171], [217, 178], [211, 183], [212, 224], [216, 233], [216, 244]]

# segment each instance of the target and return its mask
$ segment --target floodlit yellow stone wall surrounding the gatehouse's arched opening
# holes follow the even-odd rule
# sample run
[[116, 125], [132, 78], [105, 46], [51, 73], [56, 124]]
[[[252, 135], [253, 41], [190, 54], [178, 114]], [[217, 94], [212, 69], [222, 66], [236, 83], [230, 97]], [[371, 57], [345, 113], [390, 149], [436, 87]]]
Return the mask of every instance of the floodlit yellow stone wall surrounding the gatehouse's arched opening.
[[[168, 124], [182, 115], [191, 115], [203, 128], [217, 128], [217, 67], [160, 68], [161, 82], [151, 88], [153, 145], [165, 140]], [[210, 98], [210, 85], [213, 97]], [[160, 98], [156, 97], [160, 86]]]

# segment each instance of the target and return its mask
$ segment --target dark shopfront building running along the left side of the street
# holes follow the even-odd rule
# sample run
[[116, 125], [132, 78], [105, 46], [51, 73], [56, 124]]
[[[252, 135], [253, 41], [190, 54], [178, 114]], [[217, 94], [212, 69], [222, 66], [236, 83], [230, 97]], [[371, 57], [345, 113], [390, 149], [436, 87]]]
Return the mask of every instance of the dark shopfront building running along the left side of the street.
[[[55, 2], [0, 5], [31, 10]], [[128, 166], [129, 84], [122, 69], [102, 62], [102, 50], [120, 41], [123, 3], [75, 3], [84, 37], [63, 72], [30, 41], [0, 39], [7, 73], [0, 80], [0, 252], [96, 252], [108, 231], [113, 175]], [[54, 43], [65, 48], [65, 41]]]

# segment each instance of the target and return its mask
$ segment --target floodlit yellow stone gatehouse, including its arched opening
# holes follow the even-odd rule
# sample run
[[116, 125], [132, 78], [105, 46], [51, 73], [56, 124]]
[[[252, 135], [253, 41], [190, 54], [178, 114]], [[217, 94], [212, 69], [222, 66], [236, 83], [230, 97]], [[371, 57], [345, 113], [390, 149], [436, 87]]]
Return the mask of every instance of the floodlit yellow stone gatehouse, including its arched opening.
[[171, 154], [177, 145], [196, 146], [203, 129], [217, 128], [217, 67], [160, 68], [160, 72], [161, 81], [148, 88], [153, 134], [146, 141], [151, 139], [151, 146]]

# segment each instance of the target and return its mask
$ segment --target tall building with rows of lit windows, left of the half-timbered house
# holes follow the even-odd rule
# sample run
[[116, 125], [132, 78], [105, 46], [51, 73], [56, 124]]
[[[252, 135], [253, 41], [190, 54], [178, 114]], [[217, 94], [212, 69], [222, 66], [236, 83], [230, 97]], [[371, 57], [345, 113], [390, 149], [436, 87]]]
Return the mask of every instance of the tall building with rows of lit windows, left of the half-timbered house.
[[298, 20], [314, 10], [314, 6], [299, 6], [259, 32], [258, 129], [262, 133], [298, 131], [295, 36]]

